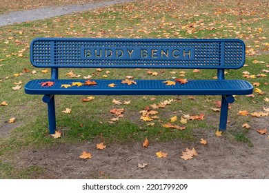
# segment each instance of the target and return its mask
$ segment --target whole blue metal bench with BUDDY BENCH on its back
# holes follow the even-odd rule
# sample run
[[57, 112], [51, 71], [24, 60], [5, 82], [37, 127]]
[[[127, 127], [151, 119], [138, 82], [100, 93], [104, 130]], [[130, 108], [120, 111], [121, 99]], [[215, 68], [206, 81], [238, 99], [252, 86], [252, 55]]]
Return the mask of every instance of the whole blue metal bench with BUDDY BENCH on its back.
[[[225, 69], [241, 68], [245, 62], [245, 45], [239, 39], [67, 39], [39, 38], [30, 45], [30, 61], [37, 68], [51, 68], [51, 79], [26, 83], [27, 94], [44, 94], [48, 103], [50, 134], [56, 130], [55, 94], [92, 95], [221, 95], [219, 130], [226, 130], [228, 103], [232, 95], [251, 94], [248, 81], [224, 79]], [[186, 84], [166, 85], [166, 80], [94, 79], [97, 85], [63, 88], [74, 80], [58, 79], [59, 68], [170, 68], [216, 69], [217, 80], [188, 80]], [[41, 83], [53, 81], [51, 86]], [[76, 82], [85, 83], [85, 79]], [[111, 88], [108, 85], [115, 83]]]

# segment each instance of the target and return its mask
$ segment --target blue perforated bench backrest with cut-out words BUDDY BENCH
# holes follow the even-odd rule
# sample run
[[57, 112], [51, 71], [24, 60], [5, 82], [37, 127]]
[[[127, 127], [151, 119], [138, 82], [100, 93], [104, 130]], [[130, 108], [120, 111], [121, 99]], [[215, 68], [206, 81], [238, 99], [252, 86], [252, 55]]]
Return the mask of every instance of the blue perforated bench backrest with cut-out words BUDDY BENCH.
[[39, 68], [241, 68], [239, 39], [39, 38], [30, 46]]

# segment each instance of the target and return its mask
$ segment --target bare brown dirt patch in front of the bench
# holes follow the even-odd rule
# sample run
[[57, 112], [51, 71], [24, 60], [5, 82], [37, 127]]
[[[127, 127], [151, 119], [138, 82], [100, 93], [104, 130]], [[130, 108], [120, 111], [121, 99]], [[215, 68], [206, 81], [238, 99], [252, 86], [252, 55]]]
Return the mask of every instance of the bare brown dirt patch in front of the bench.
[[[248, 132], [253, 143], [236, 141], [230, 134], [217, 137], [203, 131], [207, 145], [184, 141], [110, 144], [97, 150], [97, 142], [60, 144], [53, 148], [24, 150], [18, 155], [17, 167], [39, 166], [45, 171], [33, 179], [269, 179], [269, 139], [255, 130]], [[180, 159], [186, 148], [195, 148], [194, 159]], [[155, 152], [168, 152], [167, 158], [157, 158]], [[92, 159], [81, 160], [83, 151]], [[141, 169], [139, 163], [148, 165]]]

